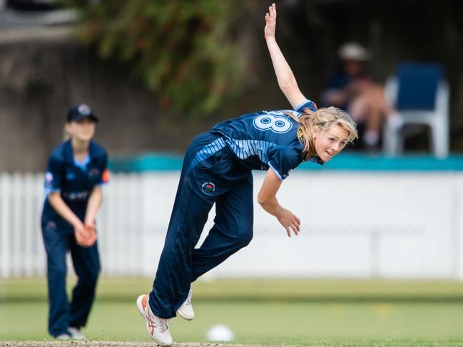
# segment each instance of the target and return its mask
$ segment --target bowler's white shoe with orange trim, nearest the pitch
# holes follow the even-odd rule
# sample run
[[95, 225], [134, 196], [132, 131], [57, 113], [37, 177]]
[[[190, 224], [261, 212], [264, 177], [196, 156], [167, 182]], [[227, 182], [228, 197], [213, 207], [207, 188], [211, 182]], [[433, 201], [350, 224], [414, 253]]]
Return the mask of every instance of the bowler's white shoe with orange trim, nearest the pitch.
[[167, 319], [155, 316], [148, 304], [148, 295], [138, 296], [137, 308], [140, 314], [145, 318], [146, 330], [150, 333], [151, 338], [161, 346], [171, 346], [172, 336], [167, 326]]

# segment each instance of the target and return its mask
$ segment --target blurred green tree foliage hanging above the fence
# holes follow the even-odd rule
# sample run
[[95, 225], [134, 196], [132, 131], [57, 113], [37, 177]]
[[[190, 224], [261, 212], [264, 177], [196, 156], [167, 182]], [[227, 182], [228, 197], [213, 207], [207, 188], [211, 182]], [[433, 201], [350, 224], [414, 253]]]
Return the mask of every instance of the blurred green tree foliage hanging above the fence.
[[240, 90], [246, 58], [234, 0], [75, 1], [82, 37], [132, 66], [166, 111], [201, 118]]

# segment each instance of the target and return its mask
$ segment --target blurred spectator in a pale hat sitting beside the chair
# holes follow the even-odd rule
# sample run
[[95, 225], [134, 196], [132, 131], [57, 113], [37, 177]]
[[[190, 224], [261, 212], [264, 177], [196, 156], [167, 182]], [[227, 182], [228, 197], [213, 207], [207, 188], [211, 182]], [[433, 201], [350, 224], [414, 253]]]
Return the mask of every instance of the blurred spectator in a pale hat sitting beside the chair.
[[383, 87], [366, 70], [370, 52], [358, 43], [345, 43], [340, 47], [339, 56], [342, 70], [328, 80], [322, 103], [350, 113], [363, 130], [363, 145], [377, 149], [384, 118], [393, 119], [392, 123], [397, 123], [397, 127], [400, 127], [400, 118], [385, 100]]

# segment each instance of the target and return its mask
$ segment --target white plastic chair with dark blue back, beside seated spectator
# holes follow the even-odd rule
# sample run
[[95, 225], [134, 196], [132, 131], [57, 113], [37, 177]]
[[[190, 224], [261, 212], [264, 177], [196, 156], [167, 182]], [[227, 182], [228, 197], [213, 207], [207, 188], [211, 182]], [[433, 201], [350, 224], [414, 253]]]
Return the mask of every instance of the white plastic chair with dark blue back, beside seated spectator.
[[[449, 155], [449, 87], [442, 68], [435, 64], [403, 63], [387, 79], [385, 96], [397, 110], [400, 123], [428, 125], [431, 148], [436, 157]], [[383, 150], [386, 155], [403, 152], [403, 128], [397, 120], [386, 121]]]

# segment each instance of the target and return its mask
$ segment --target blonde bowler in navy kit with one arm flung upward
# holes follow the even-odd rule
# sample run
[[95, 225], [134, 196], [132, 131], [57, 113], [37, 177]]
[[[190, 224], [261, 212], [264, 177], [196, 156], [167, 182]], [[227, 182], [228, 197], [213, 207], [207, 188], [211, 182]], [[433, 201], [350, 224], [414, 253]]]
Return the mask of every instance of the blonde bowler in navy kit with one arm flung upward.
[[[262, 111], [215, 125], [188, 147], [166, 242], [150, 294], [138, 310], [156, 343], [172, 343], [166, 320], [179, 314], [193, 319], [190, 285], [253, 238], [253, 175], [267, 170], [258, 202], [291, 233], [300, 219], [278, 204], [283, 180], [303, 161], [322, 164], [357, 138], [355, 123], [337, 108], [320, 108], [300, 92], [275, 41], [276, 10], [265, 15], [265, 40], [278, 85], [293, 110]], [[215, 203], [214, 226], [200, 248], [208, 212]]]

